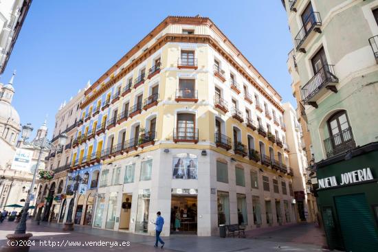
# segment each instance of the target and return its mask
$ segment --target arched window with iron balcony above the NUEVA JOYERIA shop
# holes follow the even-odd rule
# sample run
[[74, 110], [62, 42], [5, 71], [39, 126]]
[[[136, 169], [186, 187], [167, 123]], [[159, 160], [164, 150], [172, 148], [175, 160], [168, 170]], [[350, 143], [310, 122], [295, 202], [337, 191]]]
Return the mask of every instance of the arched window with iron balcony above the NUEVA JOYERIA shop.
[[329, 138], [324, 140], [326, 156], [331, 157], [355, 147], [351, 124], [346, 111], [339, 111], [327, 121]]

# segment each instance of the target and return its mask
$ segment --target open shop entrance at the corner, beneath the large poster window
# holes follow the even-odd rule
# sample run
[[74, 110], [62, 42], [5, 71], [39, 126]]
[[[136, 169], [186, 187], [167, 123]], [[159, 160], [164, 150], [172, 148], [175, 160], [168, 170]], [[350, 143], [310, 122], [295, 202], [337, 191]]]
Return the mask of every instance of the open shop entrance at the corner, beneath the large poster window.
[[197, 195], [172, 194], [170, 233], [197, 234]]

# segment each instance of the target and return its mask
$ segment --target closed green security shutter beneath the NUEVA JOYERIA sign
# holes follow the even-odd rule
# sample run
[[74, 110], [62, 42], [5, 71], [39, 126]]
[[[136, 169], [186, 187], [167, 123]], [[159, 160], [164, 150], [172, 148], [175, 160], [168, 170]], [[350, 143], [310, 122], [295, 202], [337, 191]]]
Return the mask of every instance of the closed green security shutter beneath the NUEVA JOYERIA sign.
[[345, 250], [377, 252], [377, 231], [365, 194], [336, 196], [335, 204]]

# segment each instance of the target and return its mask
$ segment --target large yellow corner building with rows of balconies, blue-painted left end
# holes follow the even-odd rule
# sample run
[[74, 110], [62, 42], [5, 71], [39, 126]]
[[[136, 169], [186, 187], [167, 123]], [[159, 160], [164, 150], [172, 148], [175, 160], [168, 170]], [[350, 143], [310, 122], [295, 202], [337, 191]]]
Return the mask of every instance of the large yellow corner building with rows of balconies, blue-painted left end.
[[85, 91], [72, 170], [100, 181], [73, 219], [91, 196], [93, 227], [135, 233], [296, 222], [280, 100], [210, 19], [168, 16]]

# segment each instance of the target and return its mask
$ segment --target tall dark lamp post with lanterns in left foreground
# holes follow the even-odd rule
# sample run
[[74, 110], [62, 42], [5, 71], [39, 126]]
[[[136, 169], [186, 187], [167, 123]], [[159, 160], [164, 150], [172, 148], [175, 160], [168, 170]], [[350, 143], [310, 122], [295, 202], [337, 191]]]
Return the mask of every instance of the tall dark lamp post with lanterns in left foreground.
[[[21, 138], [23, 139], [23, 143], [27, 145], [32, 145], [34, 148], [39, 149], [39, 154], [38, 154], [38, 159], [36, 162], [36, 168], [34, 170], [33, 174], [33, 180], [32, 184], [30, 185], [30, 188], [34, 187], [34, 184], [36, 182], [36, 174], [38, 173], [38, 166], [39, 163], [41, 163], [41, 157], [43, 154], [44, 150], [60, 150], [62, 148], [66, 141], [67, 141], [67, 135], [65, 133], [59, 135], [59, 141], [58, 141], [58, 146], [55, 147], [51, 141], [49, 141], [45, 135], [45, 137], [41, 139], [35, 139], [33, 141], [27, 142], [27, 139], [30, 137], [32, 134], [33, 127], [31, 124], [26, 124], [22, 127], [22, 133], [21, 133]], [[5, 247], [5, 251], [8, 249], [8, 251], [29, 251], [30, 247], [22, 247], [23, 244], [27, 244], [27, 242], [23, 243], [20, 242], [22, 241], [27, 241], [29, 240], [30, 237], [32, 237], [32, 233], [26, 233], [26, 220], [27, 220], [27, 211], [29, 210], [29, 205], [30, 205], [30, 198], [32, 196], [32, 190], [28, 190], [27, 192], [27, 197], [25, 201], [25, 207], [23, 207], [23, 214], [21, 216], [21, 220], [19, 222], [19, 225], [17, 225], [16, 229], [14, 230], [13, 234], [9, 234], [7, 236], [8, 240], [12, 242], [8, 242], [7, 244], [19, 244], [19, 247]], [[20, 246], [21, 245], [21, 246]]]

